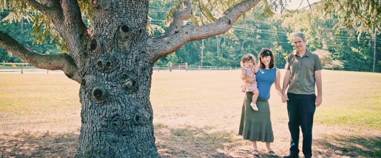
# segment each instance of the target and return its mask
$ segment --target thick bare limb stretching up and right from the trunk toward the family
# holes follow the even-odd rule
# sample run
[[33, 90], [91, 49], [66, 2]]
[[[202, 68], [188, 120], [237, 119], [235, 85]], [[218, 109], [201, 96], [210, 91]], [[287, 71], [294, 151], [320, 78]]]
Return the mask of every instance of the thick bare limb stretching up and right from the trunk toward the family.
[[233, 23], [246, 11], [253, 8], [261, 0], [242, 0], [234, 6], [227, 9], [221, 17], [214, 23], [190, 26], [187, 25], [167, 38], [148, 39], [147, 44], [150, 50], [150, 56], [153, 61], [170, 54], [179, 49], [184, 44], [193, 40], [202, 40], [227, 32]]

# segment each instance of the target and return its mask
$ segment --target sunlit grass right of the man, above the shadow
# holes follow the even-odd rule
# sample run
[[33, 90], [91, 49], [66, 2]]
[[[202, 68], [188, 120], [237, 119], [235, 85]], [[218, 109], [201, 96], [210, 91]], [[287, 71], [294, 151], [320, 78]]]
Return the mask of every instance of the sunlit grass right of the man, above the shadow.
[[319, 123], [381, 129], [381, 74], [324, 71]]

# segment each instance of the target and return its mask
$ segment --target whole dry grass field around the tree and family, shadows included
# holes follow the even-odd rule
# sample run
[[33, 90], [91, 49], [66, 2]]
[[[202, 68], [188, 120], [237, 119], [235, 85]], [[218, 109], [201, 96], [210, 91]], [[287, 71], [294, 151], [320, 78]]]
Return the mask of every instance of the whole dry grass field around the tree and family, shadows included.
[[[250, 142], [237, 135], [244, 97], [239, 74], [154, 72], [150, 99], [163, 158], [253, 157]], [[381, 74], [324, 70], [322, 78], [314, 156], [381, 157]], [[61, 72], [0, 73], [0, 156], [73, 157], [80, 128], [78, 90], [79, 84]], [[290, 141], [286, 104], [274, 88], [271, 94], [272, 148], [284, 155]], [[264, 143], [258, 147], [267, 158]]]

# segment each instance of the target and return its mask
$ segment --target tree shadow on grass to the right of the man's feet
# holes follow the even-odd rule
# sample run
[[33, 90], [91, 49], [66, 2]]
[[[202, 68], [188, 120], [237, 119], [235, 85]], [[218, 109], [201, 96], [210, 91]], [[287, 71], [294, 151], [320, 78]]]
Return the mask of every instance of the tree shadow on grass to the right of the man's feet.
[[381, 136], [325, 135], [314, 140], [322, 157], [380, 158]]

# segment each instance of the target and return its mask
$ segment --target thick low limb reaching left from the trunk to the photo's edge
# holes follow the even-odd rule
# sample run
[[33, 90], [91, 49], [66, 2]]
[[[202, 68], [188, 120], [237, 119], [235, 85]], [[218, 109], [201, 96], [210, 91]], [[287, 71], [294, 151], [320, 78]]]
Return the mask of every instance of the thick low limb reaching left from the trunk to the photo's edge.
[[67, 54], [42, 55], [36, 53], [2, 32], [0, 32], [0, 47], [6, 49], [37, 68], [62, 70], [68, 78], [73, 79], [78, 83], [81, 82], [78, 68], [73, 59]]

